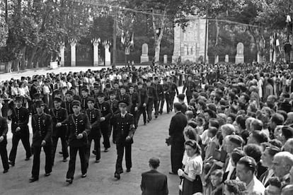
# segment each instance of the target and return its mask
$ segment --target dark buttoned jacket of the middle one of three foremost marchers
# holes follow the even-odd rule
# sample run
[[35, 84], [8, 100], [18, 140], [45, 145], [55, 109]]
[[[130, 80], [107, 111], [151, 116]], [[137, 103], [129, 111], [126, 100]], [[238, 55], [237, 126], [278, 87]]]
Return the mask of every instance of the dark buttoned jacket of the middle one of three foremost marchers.
[[[67, 138], [69, 146], [81, 147], [88, 143], [88, 134], [91, 132], [91, 124], [88, 120], [88, 115], [80, 113], [77, 117], [70, 114], [67, 121], [68, 132]], [[76, 136], [83, 134], [83, 138], [77, 139]]]

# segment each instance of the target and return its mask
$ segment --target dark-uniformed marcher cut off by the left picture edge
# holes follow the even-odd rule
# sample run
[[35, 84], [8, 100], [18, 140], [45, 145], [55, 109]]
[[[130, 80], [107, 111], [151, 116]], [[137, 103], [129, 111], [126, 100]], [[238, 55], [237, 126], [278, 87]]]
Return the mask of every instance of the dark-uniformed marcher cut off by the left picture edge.
[[6, 139], [6, 134], [8, 131], [8, 125], [6, 118], [0, 116], [0, 156], [2, 159], [2, 165], [4, 168], [3, 173], [8, 172], [9, 170], [9, 165], [8, 165], [8, 156], [7, 156], [7, 139]]

